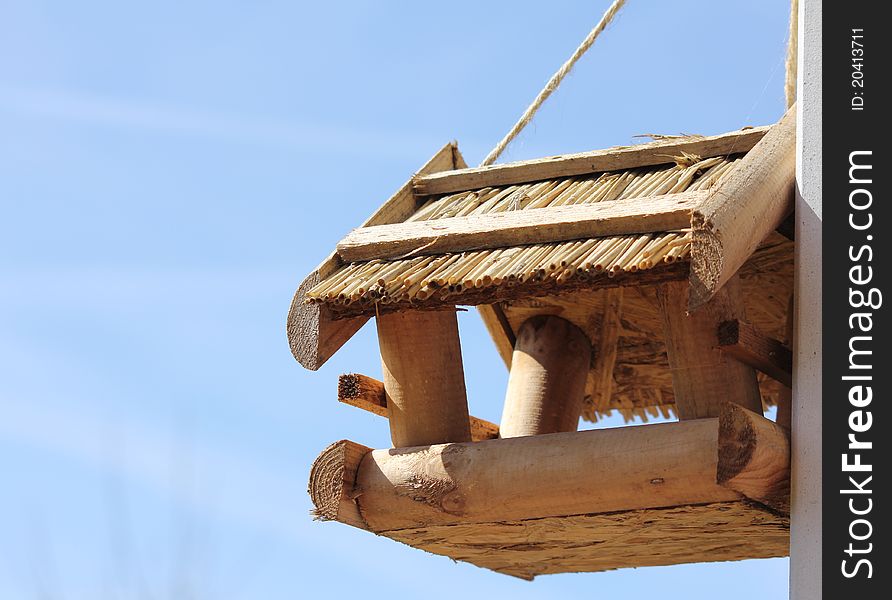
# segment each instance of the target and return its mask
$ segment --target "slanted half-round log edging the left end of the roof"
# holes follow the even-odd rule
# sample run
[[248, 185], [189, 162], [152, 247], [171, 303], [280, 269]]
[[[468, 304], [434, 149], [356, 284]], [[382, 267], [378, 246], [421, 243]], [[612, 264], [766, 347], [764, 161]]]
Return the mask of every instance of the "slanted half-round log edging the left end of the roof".
[[[453, 142], [443, 146], [418, 172], [435, 173], [454, 169], [456, 161], [464, 164], [458, 147]], [[363, 223], [363, 227], [404, 221], [416, 208], [412, 183], [409, 181], [375, 211]], [[329, 255], [298, 286], [288, 311], [286, 329], [291, 353], [301, 365], [312, 371], [325, 364], [368, 321], [366, 316], [336, 319], [327, 307], [304, 302], [308, 291], [342, 265], [343, 262], [336, 253]]]

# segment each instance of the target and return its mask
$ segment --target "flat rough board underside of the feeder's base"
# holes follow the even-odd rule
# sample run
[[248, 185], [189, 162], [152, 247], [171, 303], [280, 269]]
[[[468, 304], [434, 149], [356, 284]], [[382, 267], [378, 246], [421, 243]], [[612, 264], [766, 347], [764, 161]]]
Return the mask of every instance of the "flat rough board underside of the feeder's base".
[[387, 537], [498, 573], [533, 579], [787, 556], [790, 523], [749, 502], [401, 529]]

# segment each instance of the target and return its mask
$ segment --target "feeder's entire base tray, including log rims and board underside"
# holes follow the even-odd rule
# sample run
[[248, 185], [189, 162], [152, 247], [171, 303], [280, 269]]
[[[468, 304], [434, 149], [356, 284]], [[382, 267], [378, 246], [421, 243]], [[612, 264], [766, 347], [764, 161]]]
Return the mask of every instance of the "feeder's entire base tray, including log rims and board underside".
[[470, 444], [335, 444], [319, 462], [332, 473], [311, 480], [320, 516], [360, 514], [358, 527], [527, 579], [787, 553], [787, 434], [736, 406], [717, 419]]

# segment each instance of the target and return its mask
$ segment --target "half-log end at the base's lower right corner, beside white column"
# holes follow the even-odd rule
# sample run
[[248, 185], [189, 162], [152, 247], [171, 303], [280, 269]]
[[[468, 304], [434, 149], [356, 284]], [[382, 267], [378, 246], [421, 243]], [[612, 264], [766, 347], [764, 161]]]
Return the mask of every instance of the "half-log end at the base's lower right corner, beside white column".
[[716, 480], [778, 512], [790, 514], [789, 430], [736, 404], [719, 418]]

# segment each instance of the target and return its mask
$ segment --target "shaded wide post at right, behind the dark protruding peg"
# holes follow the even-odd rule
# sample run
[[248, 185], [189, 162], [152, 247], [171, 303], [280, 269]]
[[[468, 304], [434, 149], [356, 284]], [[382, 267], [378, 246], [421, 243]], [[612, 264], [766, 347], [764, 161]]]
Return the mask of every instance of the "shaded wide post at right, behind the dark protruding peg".
[[719, 323], [745, 316], [737, 288], [734, 278], [690, 314], [686, 283], [670, 282], [658, 288], [675, 407], [681, 420], [717, 417], [723, 401], [762, 414], [756, 372], [717, 348]]

